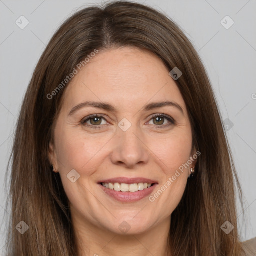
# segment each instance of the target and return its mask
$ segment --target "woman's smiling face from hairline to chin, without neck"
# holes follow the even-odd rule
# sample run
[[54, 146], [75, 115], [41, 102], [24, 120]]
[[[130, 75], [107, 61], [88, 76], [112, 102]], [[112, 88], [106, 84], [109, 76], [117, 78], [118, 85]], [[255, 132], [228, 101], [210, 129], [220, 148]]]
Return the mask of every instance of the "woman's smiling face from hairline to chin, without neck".
[[50, 157], [74, 221], [135, 234], [177, 207], [195, 151], [169, 71], [152, 53], [123, 47], [96, 54], [65, 88]]

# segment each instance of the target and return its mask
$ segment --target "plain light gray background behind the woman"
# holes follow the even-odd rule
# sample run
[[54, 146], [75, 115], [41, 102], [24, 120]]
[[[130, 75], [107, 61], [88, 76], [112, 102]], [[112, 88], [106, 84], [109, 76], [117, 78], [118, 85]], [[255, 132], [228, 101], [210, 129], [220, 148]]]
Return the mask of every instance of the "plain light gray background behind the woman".
[[[227, 128], [245, 198], [238, 207], [242, 240], [256, 236], [256, 0], [141, 0], [171, 17], [192, 41], [208, 72]], [[57, 27], [85, 6], [103, 1], [0, 0], [0, 255], [6, 234], [4, 176], [13, 131], [33, 69]], [[29, 24], [20, 29], [23, 15]], [[226, 15], [234, 21], [224, 18]], [[226, 28], [221, 24], [221, 20]], [[24, 24], [24, 22], [23, 22]], [[225, 124], [230, 121], [225, 120]], [[24, 141], [25, 143], [25, 141]], [[24, 180], [25, 182], [25, 180]], [[3, 215], [6, 218], [3, 218]]]

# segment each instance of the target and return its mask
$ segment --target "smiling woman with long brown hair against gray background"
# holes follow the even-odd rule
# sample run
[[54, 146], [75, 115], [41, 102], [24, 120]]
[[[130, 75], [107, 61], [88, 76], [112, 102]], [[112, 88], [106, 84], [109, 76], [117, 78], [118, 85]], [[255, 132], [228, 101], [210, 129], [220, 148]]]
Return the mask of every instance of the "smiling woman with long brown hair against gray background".
[[61, 25], [25, 94], [12, 161], [8, 255], [249, 253], [205, 69], [150, 7], [88, 7]]

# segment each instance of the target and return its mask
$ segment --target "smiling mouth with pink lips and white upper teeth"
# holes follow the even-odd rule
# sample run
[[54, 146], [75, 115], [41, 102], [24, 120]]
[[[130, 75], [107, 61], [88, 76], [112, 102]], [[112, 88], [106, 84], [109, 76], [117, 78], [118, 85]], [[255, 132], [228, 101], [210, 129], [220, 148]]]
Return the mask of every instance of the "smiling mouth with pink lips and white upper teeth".
[[158, 182], [146, 178], [114, 178], [98, 182], [110, 197], [121, 202], [134, 202], [149, 196]]

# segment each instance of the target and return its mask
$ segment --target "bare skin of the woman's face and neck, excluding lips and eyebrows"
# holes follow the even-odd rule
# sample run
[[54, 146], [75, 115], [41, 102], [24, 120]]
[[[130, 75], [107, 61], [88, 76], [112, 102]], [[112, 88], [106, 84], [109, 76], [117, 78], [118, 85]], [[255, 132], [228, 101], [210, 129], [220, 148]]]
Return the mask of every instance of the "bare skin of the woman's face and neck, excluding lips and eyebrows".
[[[70, 201], [79, 256], [167, 255], [171, 213], [196, 160], [153, 202], [148, 197], [119, 202], [106, 195], [97, 182], [146, 177], [157, 180], [155, 193], [195, 154], [185, 102], [169, 71], [149, 51], [112, 48], [96, 54], [65, 88], [49, 159]], [[90, 106], [68, 115], [87, 100], [109, 103], [117, 112]], [[148, 103], [166, 100], [179, 104], [183, 113], [174, 106], [141, 110]], [[166, 118], [152, 119], [157, 113], [173, 118], [174, 124]], [[99, 126], [93, 117], [81, 124], [91, 114], [103, 115], [96, 120], [96, 124], [101, 120], [101, 129], [86, 126]], [[131, 123], [127, 131], [118, 127], [123, 118]], [[80, 175], [74, 183], [66, 177], [72, 169]], [[127, 233], [118, 228], [123, 221], [130, 226]]]

